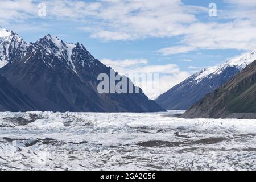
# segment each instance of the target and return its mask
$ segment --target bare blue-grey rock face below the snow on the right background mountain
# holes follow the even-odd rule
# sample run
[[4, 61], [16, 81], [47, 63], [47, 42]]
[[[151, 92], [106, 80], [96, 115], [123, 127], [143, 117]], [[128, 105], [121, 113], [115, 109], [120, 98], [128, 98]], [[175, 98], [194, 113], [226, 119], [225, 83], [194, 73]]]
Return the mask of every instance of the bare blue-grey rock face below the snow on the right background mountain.
[[220, 85], [230, 80], [230, 78], [240, 71], [240, 67], [229, 66], [223, 68], [221, 73], [211, 73], [201, 80], [196, 80], [196, 78], [203, 71], [195, 73], [187, 78], [187, 80], [174, 86], [166, 93], [163, 93], [155, 101], [167, 110], [187, 110], [206, 94], [216, 90]]

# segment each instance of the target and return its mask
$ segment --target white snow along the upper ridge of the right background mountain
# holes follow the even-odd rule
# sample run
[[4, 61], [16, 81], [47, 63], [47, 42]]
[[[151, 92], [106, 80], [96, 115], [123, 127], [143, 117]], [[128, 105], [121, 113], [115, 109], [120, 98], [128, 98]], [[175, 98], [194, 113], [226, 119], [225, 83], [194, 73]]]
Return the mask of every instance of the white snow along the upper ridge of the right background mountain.
[[233, 59], [226, 61], [225, 63], [219, 66], [209, 67], [204, 69], [203, 71], [197, 72], [195, 80], [199, 82], [203, 78], [211, 74], [214, 74], [214, 75], [221, 74], [222, 71], [224, 71], [224, 69], [227, 67], [237, 67], [238, 69], [243, 69], [255, 60], [256, 60], [256, 49], [254, 51], [247, 52], [243, 55], [240, 55], [238, 57], [234, 57]]

